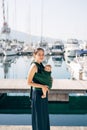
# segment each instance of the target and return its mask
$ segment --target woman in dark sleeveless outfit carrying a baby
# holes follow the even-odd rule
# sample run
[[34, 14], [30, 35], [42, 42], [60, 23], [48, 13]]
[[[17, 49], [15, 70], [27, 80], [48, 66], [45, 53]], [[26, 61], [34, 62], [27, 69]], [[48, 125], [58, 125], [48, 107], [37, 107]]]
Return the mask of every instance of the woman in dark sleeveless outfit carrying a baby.
[[[43, 71], [44, 50], [34, 51], [35, 62], [31, 64], [28, 73], [28, 85], [32, 86], [32, 130], [50, 130], [48, 114], [48, 86], [42, 85], [35, 79], [35, 75]], [[42, 91], [46, 91], [46, 98], [42, 98]]]

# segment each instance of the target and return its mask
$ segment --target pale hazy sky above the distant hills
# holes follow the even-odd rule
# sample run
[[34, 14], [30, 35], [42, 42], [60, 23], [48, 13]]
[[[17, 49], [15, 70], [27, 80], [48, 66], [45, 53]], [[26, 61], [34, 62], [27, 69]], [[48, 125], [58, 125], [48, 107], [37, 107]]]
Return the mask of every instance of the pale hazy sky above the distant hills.
[[[8, 24], [14, 30], [41, 36], [42, 23], [45, 37], [87, 39], [87, 0], [5, 0], [5, 3]], [[0, 0], [0, 28], [2, 23]]]

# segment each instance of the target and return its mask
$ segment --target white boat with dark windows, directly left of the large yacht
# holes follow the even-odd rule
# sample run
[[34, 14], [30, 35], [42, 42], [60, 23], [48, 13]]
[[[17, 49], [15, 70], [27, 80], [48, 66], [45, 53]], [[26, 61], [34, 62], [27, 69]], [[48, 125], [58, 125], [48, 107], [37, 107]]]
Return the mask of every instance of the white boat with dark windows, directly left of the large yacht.
[[62, 41], [56, 41], [54, 45], [52, 45], [51, 53], [52, 55], [64, 53], [64, 46], [63, 46]]

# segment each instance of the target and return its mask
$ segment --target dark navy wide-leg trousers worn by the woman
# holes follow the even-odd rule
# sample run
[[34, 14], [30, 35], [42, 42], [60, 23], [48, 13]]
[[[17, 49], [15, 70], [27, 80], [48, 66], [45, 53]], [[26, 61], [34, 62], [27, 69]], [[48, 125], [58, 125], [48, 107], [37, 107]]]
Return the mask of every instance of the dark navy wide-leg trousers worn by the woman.
[[48, 93], [41, 98], [42, 90], [32, 89], [32, 130], [50, 130]]

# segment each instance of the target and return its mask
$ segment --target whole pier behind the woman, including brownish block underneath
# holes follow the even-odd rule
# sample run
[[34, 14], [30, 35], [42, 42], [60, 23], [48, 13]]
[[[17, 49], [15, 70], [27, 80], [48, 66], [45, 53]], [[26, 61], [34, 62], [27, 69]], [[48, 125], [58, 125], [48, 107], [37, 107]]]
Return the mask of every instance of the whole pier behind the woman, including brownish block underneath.
[[[49, 101], [69, 101], [70, 93], [86, 93], [87, 81], [54, 79]], [[0, 93], [29, 93], [26, 79], [0, 79]]]

